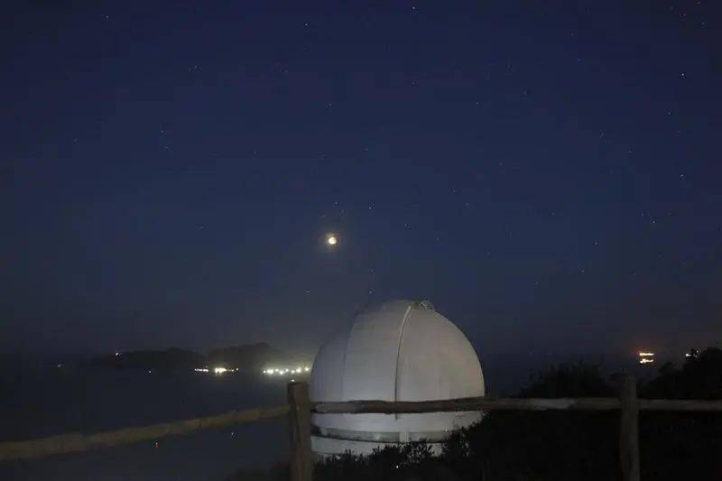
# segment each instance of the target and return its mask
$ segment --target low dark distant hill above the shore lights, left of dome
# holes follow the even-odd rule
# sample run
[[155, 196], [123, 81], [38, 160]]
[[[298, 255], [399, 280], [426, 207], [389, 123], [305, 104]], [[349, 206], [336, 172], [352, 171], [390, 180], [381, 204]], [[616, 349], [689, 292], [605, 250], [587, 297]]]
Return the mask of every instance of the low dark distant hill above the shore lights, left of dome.
[[240, 371], [259, 371], [265, 365], [288, 362], [290, 362], [289, 356], [265, 342], [259, 342], [213, 349], [208, 356], [178, 347], [153, 351], [129, 351], [95, 357], [87, 364], [102, 368], [160, 371], [187, 371], [203, 366], [237, 367]]

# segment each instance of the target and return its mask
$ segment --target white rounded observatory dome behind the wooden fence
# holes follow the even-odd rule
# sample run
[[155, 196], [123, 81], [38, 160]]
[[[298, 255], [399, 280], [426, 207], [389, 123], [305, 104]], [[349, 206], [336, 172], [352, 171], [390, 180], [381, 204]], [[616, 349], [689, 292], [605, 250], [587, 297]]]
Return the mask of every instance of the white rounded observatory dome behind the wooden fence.
[[[474, 347], [429, 301], [390, 301], [356, 317], [320, 348], [310, 400], [430, 401], [483, 396]], [[313, 414], [315, 453], [369, 453], [384, 443], [440, 442], [479, 412]]]

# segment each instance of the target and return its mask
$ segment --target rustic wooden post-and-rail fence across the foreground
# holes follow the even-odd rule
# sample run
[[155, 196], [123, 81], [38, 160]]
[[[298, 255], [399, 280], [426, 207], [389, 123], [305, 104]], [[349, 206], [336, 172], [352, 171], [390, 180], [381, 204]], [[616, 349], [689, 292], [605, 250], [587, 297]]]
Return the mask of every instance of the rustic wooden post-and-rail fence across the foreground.
[[291, 441], [291, 479], [310, 481], [313, 458], [310, 449], [310, 414], [460, 411], [620, 411], [619, 462], [623, 481], [639, 481], [639, 412], [722, 412], [722, 401], [638, 399], [632, 376], [620, 379], [617, 398], [463, 398], [446, 401], [386, 402], [347, 401], [310, 402], [305, 383], [288, 384], [288, 405], [232, 411], [216, 416], [171, 421], [141, 428], [127, 428], [97, 434], [69, 434], [44, 439], [0, 442], [0, 462], [42, 458], [55, 454], [86, 451], [122, 444], [157, 440], [165, 436], [189, 434], [197, 430], [218, 429], [236, 424], [288, 416]]

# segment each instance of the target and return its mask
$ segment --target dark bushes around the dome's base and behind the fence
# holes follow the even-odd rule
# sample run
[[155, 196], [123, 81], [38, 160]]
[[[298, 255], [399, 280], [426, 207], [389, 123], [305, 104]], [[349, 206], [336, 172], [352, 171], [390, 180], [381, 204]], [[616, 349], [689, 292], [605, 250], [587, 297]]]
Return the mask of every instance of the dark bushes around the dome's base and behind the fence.
[[[614, 384], [614, 377], [606, 379], [596, 366], [560, 365], [538, 375], [519, 397], [612, 397]], [[639, 395], [722, 399], [722, 350], [710, 347], [680, 369], [662, 366]], [[722, 479], [719, 413], [643, 412], [640, 445], [644, 480]], [[387, 447], [367, 457], [347, 453], [318, 463], [314, 479], [617, 480], [618, 446], [616, 412], [490, 412], [449, 439], [440, 457], [424, 443]], [[287, 479], [287, 467], [266, 476]]]

